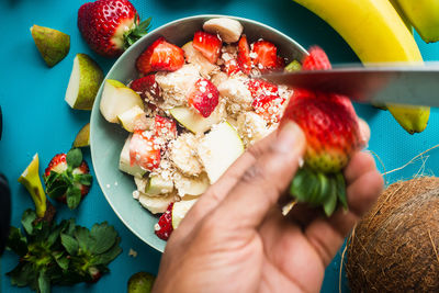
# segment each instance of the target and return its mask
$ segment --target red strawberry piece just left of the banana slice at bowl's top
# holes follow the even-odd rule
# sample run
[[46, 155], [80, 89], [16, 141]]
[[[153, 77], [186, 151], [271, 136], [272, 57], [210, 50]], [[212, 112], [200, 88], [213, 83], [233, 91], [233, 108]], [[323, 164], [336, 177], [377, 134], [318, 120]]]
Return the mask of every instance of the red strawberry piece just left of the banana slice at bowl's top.
[[222, 45], [223, 42], [214, 34], [198, 31], [193, 36], [192, 46], [201, 52], [201, 54], [203, 54], [203, 56], [212, 64], [216, 64], [221, 54]]

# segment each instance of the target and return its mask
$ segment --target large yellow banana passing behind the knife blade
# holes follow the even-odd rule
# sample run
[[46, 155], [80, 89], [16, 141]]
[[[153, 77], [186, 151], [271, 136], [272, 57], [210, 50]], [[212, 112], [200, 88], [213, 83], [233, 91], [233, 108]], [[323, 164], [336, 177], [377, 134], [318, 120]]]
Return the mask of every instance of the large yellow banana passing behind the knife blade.
[[[389, 0], [294, 0], [331, 25], [365, 65], [423, 61], [419, 48]], [[430, 109], [387, 104], [408, 133], [423, 132]]]

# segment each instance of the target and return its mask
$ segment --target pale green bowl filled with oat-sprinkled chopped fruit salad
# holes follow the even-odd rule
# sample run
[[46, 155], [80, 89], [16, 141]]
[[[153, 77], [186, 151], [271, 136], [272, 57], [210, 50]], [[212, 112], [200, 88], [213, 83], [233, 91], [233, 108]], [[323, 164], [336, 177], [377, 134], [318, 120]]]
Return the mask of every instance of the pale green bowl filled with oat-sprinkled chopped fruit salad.
[[278, 127], [292, 91], [260, 75], [305, 54], [273, 29], [222, 15], [176, 21], [130, 48], [91, 122], [98, 181], [122, 221], [162, 250], [206, 189]]

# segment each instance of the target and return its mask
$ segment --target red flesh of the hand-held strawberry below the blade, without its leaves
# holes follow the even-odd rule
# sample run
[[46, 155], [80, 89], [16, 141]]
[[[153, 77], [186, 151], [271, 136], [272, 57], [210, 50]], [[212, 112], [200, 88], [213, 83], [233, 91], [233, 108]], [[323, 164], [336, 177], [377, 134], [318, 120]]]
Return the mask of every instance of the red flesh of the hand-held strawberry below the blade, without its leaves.
[[357, 116], [335, 99], [291, 100], [284, 119], [296, 122], [305, 133], [305, 162], [316, 171], [340, 171], [360, 146]]

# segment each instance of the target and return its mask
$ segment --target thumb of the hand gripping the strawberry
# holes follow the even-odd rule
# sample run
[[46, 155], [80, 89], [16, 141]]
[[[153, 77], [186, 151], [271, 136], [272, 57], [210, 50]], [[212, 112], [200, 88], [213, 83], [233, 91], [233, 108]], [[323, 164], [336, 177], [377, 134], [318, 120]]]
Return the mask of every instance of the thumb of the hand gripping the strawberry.
[[269, 143], [248, 149], [255, 162], [218, 205], [213, 217], [229, 226], [256, 227], [290, 184], [305, 150], [305, 136], [294, 122], [286, 122]]

